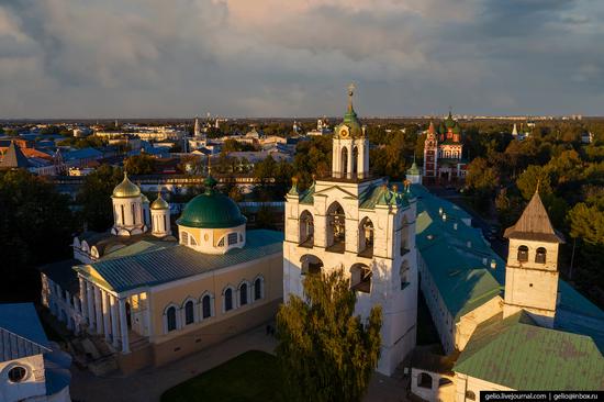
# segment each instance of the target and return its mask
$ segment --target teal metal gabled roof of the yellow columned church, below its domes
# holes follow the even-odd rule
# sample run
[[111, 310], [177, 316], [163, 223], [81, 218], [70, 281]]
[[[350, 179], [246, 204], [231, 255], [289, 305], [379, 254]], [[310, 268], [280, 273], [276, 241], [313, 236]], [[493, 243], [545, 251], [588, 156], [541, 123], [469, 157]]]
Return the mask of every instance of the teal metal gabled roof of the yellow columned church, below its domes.
[[[172, 245], [122, 258], [75, 267], [78, 272], [118, 292], [139, 287], [157, 286], [178, 279], [251, 261], [282, 253], [283, 234], [276, 231], [247, 231], [244, 248], [233, 248], [223, 255], [195, 252]], [[96, 275], [92, 269], [98, 272]]]

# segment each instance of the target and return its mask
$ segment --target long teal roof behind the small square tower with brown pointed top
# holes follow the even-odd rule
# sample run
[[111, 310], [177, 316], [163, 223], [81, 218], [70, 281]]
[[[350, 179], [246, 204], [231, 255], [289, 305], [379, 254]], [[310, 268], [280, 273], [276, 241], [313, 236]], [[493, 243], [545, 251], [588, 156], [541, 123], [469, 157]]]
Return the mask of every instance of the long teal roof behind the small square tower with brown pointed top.
[[[412, 185], [411, 192], [417, 198], [417, 250], [426, 261], [447, 310], [459, 320], [493, 294], [503, 292], [505, 261], [493, 252], [480, 230], [461, 222], [471, 220], [461, 208], [432, 194], [421, 185]], [[443, 221], [439, 209], [447, 215], [446, 221]], [[457, 230], [454, 228], [456, 223]], [[468, 247], [468, 242], [471, 247]], [[486, 267], [483, 265], [484, 258]], [[490, 268], [492, 259], [495, 259], [495, 269]], [[458, 272], [449, 278], [450, 271]], [[558, 282], [558, 291], [555, 326], [591, 336], [604, 350], [604, 311], [562, 279]]]

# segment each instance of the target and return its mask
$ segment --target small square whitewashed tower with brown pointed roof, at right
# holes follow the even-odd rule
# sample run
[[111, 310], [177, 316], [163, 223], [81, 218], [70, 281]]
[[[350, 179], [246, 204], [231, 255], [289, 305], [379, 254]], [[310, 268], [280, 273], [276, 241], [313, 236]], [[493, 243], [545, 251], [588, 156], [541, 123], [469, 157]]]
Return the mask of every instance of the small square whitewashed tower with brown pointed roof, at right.
[[521, 219], [505, 230], [510, 239], [505, 266], [503, 316], [527, 311], [540, 325], [553, 326], [558, 299], [558, 246], [562, 235], [551, 226], [538, 190]]

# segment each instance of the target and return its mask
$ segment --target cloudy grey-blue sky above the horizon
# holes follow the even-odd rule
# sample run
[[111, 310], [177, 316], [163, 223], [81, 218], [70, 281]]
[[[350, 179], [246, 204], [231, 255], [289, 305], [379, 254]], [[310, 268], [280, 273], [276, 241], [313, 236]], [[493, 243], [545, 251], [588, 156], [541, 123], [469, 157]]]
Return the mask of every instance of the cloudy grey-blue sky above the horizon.
[[603, 0], [0, 0], [1, 118], [604, 114]]

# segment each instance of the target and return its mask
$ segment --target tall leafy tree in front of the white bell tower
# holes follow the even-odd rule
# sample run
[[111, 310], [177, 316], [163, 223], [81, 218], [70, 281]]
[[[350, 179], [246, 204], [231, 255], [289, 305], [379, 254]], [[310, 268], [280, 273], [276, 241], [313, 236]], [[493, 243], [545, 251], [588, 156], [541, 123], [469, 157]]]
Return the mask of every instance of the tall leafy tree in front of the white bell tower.
[[380, 306], [366, 323], [344, 269], [309, 275], [305, 300], [291, 295], [277, 314], [277, 358], [292, 401], [360, 401], [380, 355]]

